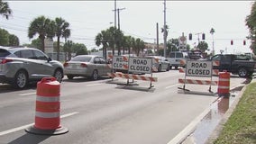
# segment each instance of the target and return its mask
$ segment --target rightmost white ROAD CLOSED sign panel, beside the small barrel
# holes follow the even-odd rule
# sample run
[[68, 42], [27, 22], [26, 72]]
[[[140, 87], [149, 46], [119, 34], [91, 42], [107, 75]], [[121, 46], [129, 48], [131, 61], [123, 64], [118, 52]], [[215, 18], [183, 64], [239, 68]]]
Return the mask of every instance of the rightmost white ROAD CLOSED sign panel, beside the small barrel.
[[212, 76], [212, 61], [187, 60], [186, 76]]

